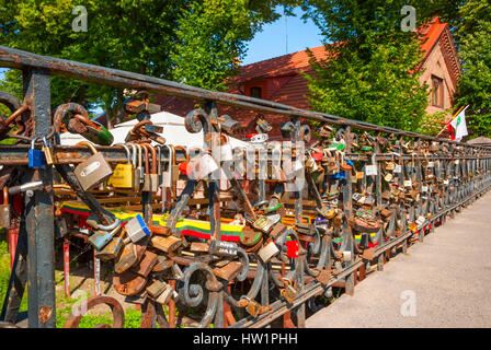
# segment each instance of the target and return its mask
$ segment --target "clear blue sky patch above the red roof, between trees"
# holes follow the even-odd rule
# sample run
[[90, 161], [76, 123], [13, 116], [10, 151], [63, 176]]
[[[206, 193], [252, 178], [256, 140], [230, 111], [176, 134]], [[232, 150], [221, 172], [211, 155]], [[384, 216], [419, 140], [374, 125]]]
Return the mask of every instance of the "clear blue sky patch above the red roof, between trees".
[[313, 22], [308, 20], [305, 23], [300, 19], [302, 11], [299, 8], [295, 9], [294, 13], [296, 16], [287, 16], [286, 23], [285, 16], [282, 16], [276, 22], [265, 25], [263, 31], [249, 43], [242, 65], [322, 45], [322, 36]]

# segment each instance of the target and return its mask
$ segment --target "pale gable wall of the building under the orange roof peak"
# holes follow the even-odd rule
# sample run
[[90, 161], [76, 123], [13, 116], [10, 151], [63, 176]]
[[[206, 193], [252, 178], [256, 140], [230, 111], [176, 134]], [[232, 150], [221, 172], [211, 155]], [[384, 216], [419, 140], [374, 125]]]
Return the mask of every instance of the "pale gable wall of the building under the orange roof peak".
[[[427, 56], [426, 60], [422, 65], [423, 74], [420, 77], [421, 84], [426, 83], [429, 86], [430, 95], [429, 95], [429, 106], [426, 107], [426, 112], [429, 114], [434, 114], [437, 112], [442, 112], [454, 106], [454, 94], [456, 91], [456, 86], [452, 81], [450, 74], [448, 72], [448, 68], [445, 63], [444, 54], [442, 50], [442, 45], [438, 42], [433, 50]], [[444, 85], [444, 98], [443, 98], [443, 107], [432, 105], [432, 75], [438, 77], [443, 79]]]

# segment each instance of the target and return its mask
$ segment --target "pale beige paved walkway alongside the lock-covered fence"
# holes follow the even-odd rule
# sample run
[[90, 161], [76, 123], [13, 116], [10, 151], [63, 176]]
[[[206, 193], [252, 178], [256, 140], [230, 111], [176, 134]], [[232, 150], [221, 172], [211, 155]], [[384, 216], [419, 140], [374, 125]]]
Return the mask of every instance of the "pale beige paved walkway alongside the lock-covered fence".
[[354, 296], [341, 295], [306, 326], [491, 327], [491, 192], [408, 255], [398, 254], [384, 271], [368, 273]]

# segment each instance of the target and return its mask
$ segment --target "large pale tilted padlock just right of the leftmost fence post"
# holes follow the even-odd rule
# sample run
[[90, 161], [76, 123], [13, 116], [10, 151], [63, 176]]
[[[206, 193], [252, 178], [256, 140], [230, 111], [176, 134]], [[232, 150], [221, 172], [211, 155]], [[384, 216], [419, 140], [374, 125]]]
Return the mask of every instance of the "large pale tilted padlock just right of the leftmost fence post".
[[77, 145], [87, 145], [94, 153], [87, 161], [77, 165], [73, 171], [73, 174], [83, 190], [89, 190], [99, 184], [102, 184], [111, 175], [113, 175], [113, 170], [110, 164], [106, 162], [102, 153], [98, 153], [98, 150], [91, 143], [82, 141], [77, 143]]

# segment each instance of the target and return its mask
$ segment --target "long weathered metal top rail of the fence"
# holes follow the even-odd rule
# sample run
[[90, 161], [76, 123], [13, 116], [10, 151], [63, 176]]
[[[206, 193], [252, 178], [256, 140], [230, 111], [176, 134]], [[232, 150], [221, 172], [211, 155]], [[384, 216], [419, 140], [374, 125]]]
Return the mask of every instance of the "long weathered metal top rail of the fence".
[[23, 50], [12, 49], [5, 46], [0, 46], [0, 67], [15, 69], [25, 69], [32, 67], [36, 69], [49, 70], [54, 75], [60, 75], [93, 83], [101, 83], [122, 89], [145, 89], [152, 93], [160, 93], [198, 101], [215, 101], [221, 105], [248, 108], [266, 114], [302, 117], [309, 120], [352, 126], [363, 130], [376, 130], [380, 132], [396, 133], [399, 136], [420, 138], [423, 140], [472, 147], [471, 144], [463, 142], [430, 137], [411, 131], [403, 131], [390, 127], [377, 126], [365, 121], [346, 119], [330, 114], [300, 109], [261, 98], [224, 92], [213, 92], [209, 90], [198, 89], [160, 78], [152, 78], [144, 74], [112, 68], [104, 68], [94, 65], [80, 63], [61, 58], [35, 55]]

